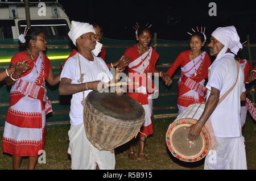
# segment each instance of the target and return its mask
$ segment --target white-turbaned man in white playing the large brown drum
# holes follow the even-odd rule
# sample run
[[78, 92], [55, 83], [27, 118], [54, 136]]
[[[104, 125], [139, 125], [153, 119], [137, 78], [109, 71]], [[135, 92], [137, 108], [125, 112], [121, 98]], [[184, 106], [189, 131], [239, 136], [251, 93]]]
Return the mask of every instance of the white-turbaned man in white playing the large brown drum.
[[86, 137], [82, 104], [90, 91], [101, 89], [101, 83], [109, 82], [113, 75], [105, 62], [97, 57], [101, 47], [97, 48], [96, 32], [91, 24], [72, 21], [68, 36], [79, 50], [65, 63], [59, 85], [60, 95], [72, 95], [68, 132], [71, 169], [92, 170], [97, 165], [99, 169], [114, 169], [114, 153], [98, 150]]

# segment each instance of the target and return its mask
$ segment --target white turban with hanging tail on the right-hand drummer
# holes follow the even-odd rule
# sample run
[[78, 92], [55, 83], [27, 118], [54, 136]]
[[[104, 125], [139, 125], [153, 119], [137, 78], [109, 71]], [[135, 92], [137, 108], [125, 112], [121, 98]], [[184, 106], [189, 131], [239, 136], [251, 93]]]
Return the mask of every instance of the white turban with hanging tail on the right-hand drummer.
[[222, 50], [218, 53], [215, 61], [219, 60], [226, 53], [228, 48], [234, 54], [237, 54], [239, 49], [243, 48], [242, 44], [240, 43], [240, 37], [238, 36], [237, 30], [234, 26], [218, 27], [215, 31], [212, 32], [212, 36], [224, 45]]

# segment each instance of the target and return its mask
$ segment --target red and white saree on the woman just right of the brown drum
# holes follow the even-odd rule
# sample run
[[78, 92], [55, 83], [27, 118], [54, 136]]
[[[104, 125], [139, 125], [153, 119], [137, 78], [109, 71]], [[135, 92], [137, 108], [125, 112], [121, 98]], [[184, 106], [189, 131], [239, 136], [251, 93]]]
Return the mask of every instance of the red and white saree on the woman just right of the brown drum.
[[[152, 48], [142, 55], [139, 54], [137, 45], [126, 49], [124, 56], [129, 56], [130, 64], [128, 65], [129, 81], [139, 82], [138, 86], [128, 86], [129, 92], [126, 94], [131, 98], [137, 100], [145, 111], [145, 120], [141, 128], [140, 137], [153, 134], [152, 125], [152, 99], [158, 91], [152, 82], [152, 75], [154, 75], [155, 64], [158, 60], [159, 54]], [[132, 90], [133, 92], [130, 92]]]

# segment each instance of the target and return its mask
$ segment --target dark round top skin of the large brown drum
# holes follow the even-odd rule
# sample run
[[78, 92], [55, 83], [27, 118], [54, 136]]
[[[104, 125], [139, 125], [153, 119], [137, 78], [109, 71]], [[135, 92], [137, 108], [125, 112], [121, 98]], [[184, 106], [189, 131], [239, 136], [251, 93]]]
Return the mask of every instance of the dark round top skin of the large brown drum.
[[118, 96], [115, 93], [92, 91], [86, 101], [104, 115], [122, 120], [136, 120], [144, 116], [144, 108], [126, 94]]

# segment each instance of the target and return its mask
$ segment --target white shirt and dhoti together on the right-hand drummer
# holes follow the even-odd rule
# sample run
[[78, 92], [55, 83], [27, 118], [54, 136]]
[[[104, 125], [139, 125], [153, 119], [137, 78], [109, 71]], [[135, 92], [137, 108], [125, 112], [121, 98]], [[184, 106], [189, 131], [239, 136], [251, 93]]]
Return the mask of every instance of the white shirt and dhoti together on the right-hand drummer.
[[[240, 67], [234, 89], [216, 107], [210, 116], [216, 136], [217, 148], [205, 158], [205, 169], [247, 169], [244, 138], [241, 136], [240, 96], [245, 91], [244, 74]], [[220, 97], [237, 79], [234, 54], [226, 53], [209, 67], [207, 99], [211, 87], [220, 90]]]

